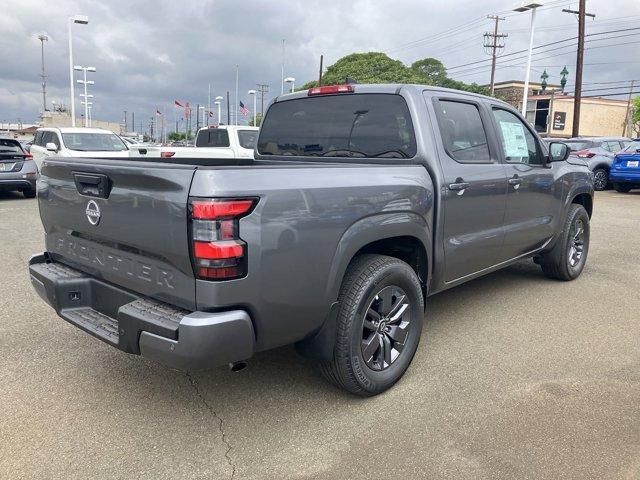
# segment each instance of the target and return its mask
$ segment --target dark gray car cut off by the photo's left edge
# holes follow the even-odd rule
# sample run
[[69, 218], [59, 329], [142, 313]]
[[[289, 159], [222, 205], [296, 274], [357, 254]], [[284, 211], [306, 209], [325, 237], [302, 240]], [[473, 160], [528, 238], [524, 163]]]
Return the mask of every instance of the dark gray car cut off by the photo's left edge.
[[38, 168], [18, 140], [0, 138], [0, 190], [19, 191], [26, 198], [36, 196]]

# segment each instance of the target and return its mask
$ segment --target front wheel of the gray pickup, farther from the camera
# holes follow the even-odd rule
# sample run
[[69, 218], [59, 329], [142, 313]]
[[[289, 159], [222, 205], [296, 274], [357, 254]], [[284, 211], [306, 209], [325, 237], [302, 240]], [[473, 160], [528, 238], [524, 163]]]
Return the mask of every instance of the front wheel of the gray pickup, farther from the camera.
[[587, 211], [582, 205], [571, 204], [555, 246], [538, 261], [544, 274], [564, 281], [578, 278], [587, 261], [589, 236]]

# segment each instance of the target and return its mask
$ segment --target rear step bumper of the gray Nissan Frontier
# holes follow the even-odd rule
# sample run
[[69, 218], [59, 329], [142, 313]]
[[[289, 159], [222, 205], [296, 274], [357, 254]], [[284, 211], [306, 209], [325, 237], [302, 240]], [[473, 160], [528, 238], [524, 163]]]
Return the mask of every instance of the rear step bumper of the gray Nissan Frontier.
[[59, 262], [29, 261], [31, 284], [56, 313], [128, 353], [180, 370], [247, 360], [255, 335], [247, 312], [189, 312], [140, 297]]

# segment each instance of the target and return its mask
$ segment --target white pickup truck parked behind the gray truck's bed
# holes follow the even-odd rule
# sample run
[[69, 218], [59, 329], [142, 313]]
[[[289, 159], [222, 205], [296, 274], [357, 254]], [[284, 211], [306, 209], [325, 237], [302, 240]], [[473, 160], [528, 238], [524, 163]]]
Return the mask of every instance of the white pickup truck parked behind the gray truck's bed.
[[132, 146], [132, 157], [253, 159], [258, 127], [209, 126], [198, 130], [195, 147]]

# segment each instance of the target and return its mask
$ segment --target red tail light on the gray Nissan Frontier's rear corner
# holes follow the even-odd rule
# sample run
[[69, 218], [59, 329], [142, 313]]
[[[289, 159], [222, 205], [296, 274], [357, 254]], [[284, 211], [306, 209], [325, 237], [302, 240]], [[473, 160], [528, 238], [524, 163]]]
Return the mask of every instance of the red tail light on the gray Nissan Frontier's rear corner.
[[190, 202], [193, 266], [197, 278], [231, 280], [247, 274], [247, 244], [240, 219], [254, 198], [194, 198]]

